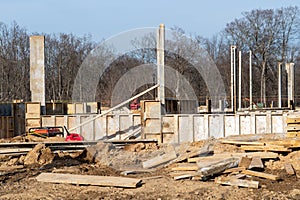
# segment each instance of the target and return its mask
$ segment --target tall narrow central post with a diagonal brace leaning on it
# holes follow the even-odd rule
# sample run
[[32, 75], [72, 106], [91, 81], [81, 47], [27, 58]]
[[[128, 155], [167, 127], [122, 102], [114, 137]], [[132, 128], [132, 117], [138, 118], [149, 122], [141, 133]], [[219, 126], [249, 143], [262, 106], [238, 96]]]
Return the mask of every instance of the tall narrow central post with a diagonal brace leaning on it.
[[157, 83], [158, 100], [165, 105], [165, 25], [160, 24], [157, 31]]

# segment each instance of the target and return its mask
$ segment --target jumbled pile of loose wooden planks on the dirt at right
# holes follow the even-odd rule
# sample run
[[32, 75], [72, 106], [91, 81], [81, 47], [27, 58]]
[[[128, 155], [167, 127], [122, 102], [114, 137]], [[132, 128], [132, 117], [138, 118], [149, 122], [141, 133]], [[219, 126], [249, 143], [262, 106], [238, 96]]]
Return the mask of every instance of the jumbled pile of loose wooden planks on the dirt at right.
[[[257, 178], [278, 181], [277, 174], [267, 173], [265, 162], [278, 160], [279, 154], [289, 154], [300, 148], [300, 138], [266, 139], [245, 141], [238, 139], [224, 139], [221, 143], [238, 146], [243, 153], [217, 153], [207, 155], [194, 155], [186, 157], [173, 164], [170, 175], [174, 180], [190, 179], [206, 181], [214, 179], [218, 184], [239, 187], [258, 188]], [[287, 174], [297, 175], [291, 163], [285, 164]]]

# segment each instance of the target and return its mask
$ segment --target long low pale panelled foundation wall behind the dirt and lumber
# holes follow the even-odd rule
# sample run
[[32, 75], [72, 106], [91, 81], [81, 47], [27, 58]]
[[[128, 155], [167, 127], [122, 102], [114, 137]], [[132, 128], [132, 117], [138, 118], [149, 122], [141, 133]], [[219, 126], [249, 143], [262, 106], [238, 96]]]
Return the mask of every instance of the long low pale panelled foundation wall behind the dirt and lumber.
[[[163, 117], [163, 138], [166, 143], [198, 141], [244, 134], [282, 134], [288, 112], [253, 112], [248, 114], [181, 114]], [[42, 126], [63, 126], [68, 129], [96, 115], [42, 116]], [[153, 119], [156, 120], [156, 119]], [[99, 117], [76, 131], [86, 140], [125, 139], [140, 128], [139, 114], [119, 114]], [[160, 123], [147, 121], [143, 127], [145, 139], [159, 139]]]

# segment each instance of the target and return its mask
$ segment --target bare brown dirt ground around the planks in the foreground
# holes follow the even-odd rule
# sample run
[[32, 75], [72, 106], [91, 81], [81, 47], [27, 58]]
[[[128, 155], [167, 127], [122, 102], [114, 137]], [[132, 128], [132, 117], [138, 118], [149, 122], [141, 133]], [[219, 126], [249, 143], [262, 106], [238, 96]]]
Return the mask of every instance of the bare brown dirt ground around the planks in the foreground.
[[[234, 145], [224, 145], [214, 140], [193, 143], [188, 148], [198, 148], [207, 143], [218, 152], [240, 151]], [[142, 185], [134, 189], [42, 183], [35, 179], [42, 172], [122, 176], [120, 173], [126, 166], [139, 169], [140, 163], [146, 160], [147, 156], [153, 157], [171, 147], [174, 148], [174, 146], [147, 147], [139, 144], [125, 149], [114, 149], [109, 145], [103, 148], [102, 145], [100, 144], [99, 148], [105, 150], [102, 154], [92, 155], [94, 161], [87, 159], [86, 154], [55, 155], [52, 162], [47, 164], [0, 172], [0, 199], [300, 199], [300, 179], [295, 175], [288, 175], [280, 165], [276, 167], [274, 163], [280, 160], [275, 160], [272, 165], [268, 164], [270, 167], [266, 167], [265, 172], [280, 175], [282, 180], [251, 178], [260, 182], [258, 189], [218, 185], [213, 177], [207, 181], [174, 180], [170, 175], [170, 167], [160, 167], [126, 176], [142, 179]], [[185, 151], [185, 147], [175, 146], [175, 149]], [[106, 160], [98, 158], [97, 161], [99, 156], [106, 157]], [[284, 158], [287, 157], [282, 156], [281, 159]], [[2, 166], [21, 165], [20, 158], [2, 157], [0, 160]]]

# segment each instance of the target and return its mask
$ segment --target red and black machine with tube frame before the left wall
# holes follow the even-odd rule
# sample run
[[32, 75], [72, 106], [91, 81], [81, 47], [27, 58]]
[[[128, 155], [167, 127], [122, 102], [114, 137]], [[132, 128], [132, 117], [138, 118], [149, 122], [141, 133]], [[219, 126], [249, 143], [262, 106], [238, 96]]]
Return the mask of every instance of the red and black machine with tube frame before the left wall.
[[46, 126], [34, 127], [28, 131], [29, 135], [35, 135], [43, 138], [60, 136], [64, 137], [66, 132], [66, 141], [83, 141], [84, 138], [78, 133], [69, 133], [65, 126]]

